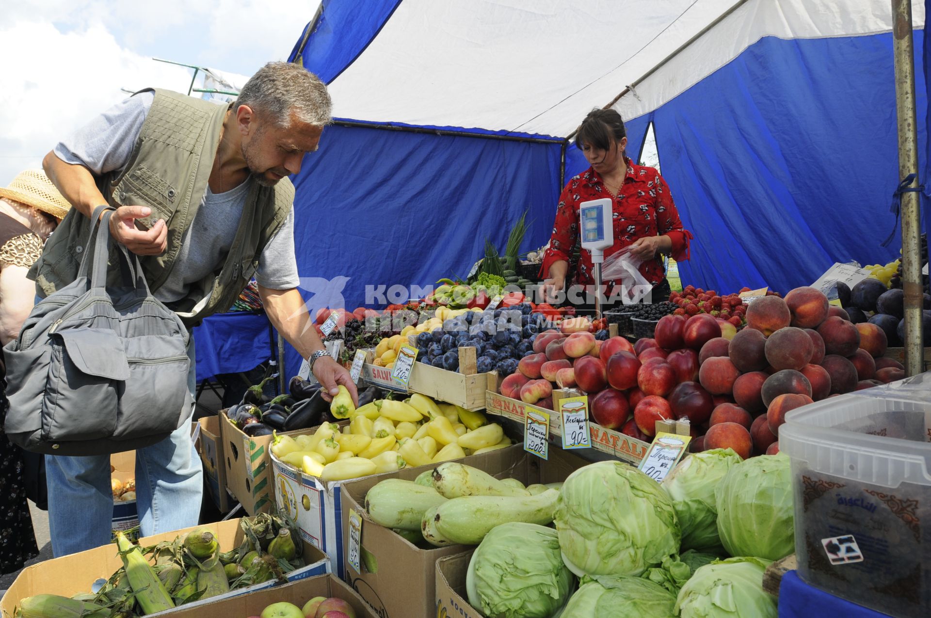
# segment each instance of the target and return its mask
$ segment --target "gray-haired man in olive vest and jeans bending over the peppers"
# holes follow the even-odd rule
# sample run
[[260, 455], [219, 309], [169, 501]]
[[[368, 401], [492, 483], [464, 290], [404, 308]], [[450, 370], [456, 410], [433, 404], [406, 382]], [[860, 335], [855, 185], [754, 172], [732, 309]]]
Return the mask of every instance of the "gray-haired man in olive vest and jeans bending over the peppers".
[[[286, 178], [317, 150], [331, 122], [326, 86], [304, 68], [265, 65], [232, 105], [167, 90], [142, 90], [61, 141], [44, 167], [74, 205], [31, 271], [40, 296], [77, 275], [89, 217], [116, 208], [110, 234], [141, 256], [155, 298], [195, 326], [225, 311], [254, 275], [265, 312], [335, 395], [356, 397], [349, 373], [307, 328], [294, 257], [292, 202]], [[117, 263], [115, 257], [111, 265]], [[113, 267], [109, 276], [119, 276]], [[195, 387], [191, 339], [188, 387]], [[192, 406], [193, 413], [193, 406]], [[87, 410], [92, 414], [93, 410]], [[49, 525], [55, 556], [107, 544], [113, 502], [109, 457], [47, 456]], [[189, 423], [136, 455], [136, 496], [143, 535], [197, 524], [200, 460]]]

